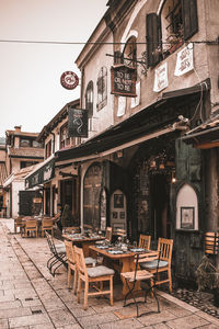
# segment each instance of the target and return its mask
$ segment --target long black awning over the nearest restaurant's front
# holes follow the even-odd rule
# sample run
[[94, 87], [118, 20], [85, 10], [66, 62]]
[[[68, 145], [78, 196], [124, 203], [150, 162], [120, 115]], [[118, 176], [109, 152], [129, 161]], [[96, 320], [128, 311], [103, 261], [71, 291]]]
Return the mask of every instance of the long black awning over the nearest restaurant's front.
[[[188, 102], [188, 95], [189, 101], [193, 99], [199, 101], [200, 92], [210, 88], [209, 79], [204, 81], [203, 86], [198, 83], [193, 88], [176, 90], [175, 95], [174, 92], [171, 92], [171, 95], [165, 92], [157, 102], [88, 141], [57, 151], [56, 166], [103, 157], [176, 131], [178, 121], [178, 113], [175, 111], [176, 104], [181, 105], [181, 109], [185, 109], [184, 104]], [[171, 114], [170, 109], [172, 109]]]

